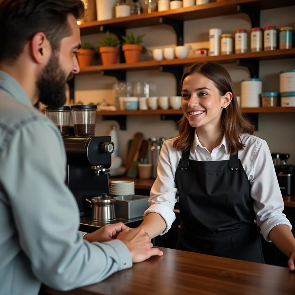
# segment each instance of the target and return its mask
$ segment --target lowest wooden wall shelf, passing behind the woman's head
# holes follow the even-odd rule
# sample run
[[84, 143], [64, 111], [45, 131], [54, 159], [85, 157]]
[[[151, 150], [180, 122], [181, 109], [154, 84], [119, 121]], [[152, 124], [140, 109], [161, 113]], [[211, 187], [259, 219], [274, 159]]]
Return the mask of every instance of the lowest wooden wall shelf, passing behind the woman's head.
[[[295, 113], [295, 107], [260, 107], [242, 108], [243, 113]], [[182, 115], [181, 109], [157, 109], [157, 110], [136, 110], [136, 111], [98, 111], [101, 116], [129, 116], [129, 115]]]

